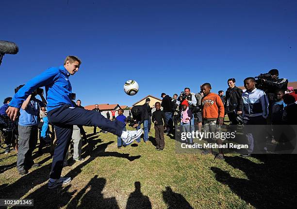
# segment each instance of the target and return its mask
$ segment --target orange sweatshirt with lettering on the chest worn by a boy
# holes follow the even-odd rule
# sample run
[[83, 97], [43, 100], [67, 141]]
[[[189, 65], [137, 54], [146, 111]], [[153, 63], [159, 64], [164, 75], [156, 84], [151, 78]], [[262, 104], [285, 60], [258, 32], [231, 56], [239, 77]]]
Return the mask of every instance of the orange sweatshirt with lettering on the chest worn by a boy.
[[204, 120], [224, 119], [224, 104], [219, 95], [209, 93], [202, 98], [202, 118]]

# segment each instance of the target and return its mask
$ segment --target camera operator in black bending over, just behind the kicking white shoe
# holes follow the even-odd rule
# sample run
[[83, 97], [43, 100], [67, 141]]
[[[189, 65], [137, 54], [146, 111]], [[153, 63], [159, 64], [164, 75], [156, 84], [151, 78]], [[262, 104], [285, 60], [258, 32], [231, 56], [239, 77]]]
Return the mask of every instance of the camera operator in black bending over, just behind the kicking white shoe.
[[[148, 111], [143, 107], [143, 105], [133, 106], [131, 109], [132, 117], [133, 117], [133, 128], [136, 130], [140, 129], [141, 123], [144, 123], [145, 120], [148, 120]], [[130, 122], [130, 123], [131, 123]], [[131, 126], [131, 125], [130, 125]], [[146, 126], [147, 127], [147, 126]], [[144, 125], [145, 128], [145, 125]], [[138, 143], [140, 143], [140, 136], [136, 139]], [[144, 132], [143, 141], [146, 143], [148, 141], [148, 131]]]

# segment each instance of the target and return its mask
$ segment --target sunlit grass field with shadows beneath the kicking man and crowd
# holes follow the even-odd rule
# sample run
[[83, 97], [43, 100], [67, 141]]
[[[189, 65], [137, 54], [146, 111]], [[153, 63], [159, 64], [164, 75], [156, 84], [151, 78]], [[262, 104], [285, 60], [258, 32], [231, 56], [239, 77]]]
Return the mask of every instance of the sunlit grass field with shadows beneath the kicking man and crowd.
[[[165, 149], [149, 142], [117, 149], [113, 134], [92, 135], [82, 148], [84, 162], [68, 161], [63, 176], [73, 180], [49, 190], [49, 152], [33, 156], [38, 168], [20, 177], [16, 153], [0, 149], [0, 198], [32, 198], [34, 208], [94, 209], [262, 209], [296, 207], [295, 155], [242, 158], [227, 154], [177, 154], [175, 140], [165, 136]], [[49, 151], [49, 147], [44, 149]], [[32, 207], [30, 207], [32, 208]]]

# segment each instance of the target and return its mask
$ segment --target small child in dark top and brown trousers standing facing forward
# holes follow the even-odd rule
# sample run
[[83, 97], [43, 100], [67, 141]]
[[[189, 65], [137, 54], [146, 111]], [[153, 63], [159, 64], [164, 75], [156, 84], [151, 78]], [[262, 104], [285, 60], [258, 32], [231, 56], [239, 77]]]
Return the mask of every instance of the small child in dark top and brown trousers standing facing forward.
[[155, 138], [156, 138], [156, 149], [161, 151], [165, 147], [164, 140], [164, 127], [165, 124], [165, 113], [160, 109], [161, 104], [159, 102], [155, 103], [156, 111], [152, 113], [151, 121], [155, 124]]

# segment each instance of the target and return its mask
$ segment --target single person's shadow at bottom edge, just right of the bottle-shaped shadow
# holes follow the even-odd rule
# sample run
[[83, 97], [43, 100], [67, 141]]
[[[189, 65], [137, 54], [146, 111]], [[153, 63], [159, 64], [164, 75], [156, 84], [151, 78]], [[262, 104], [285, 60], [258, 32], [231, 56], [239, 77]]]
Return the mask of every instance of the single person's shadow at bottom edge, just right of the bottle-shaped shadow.
[[193, 209], [188, 201], [179, 193], [172, 191], [171, 187], [167, 186], [162, 192], [164, 202], [167, 209]]

